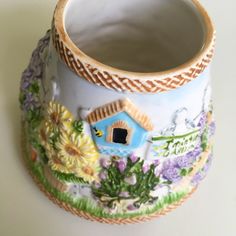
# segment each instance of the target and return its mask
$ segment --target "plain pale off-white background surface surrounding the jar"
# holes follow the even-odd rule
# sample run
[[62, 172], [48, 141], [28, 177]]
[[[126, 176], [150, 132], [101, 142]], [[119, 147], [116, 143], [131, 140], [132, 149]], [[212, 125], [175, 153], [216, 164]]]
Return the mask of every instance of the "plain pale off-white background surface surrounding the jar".
[[168, 216], [141, 225], [108, 226], [60, 210], [25, 171], [20, 159], [19, 78], [37, 40], [50, 27], [56, 0], [0, 0], [1, 236], [236, 235], [236, 3], [202, 3], [218, 31], [212, 68], [218, 130], [211, 171], [195, 195]]

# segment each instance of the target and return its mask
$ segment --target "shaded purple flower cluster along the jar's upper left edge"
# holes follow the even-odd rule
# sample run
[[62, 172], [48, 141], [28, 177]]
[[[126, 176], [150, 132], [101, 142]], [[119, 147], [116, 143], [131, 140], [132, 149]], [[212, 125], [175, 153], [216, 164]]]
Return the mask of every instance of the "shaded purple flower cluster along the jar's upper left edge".
[[39, 81], [43, 73], [41, 55], [48, 45], [50, 32], [47, 32], [34, 50], [27, 69], [22, 74], [20, 102], [23, 111], [28, 112], [40, 107]]

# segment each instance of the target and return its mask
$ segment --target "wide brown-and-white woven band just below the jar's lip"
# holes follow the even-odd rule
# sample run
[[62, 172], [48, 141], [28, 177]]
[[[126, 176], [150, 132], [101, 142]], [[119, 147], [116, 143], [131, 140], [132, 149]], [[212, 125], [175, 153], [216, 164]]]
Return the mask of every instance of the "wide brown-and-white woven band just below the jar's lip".
[[62, 61], [78, 76], [90, 83], [112, 89], [118, 92], [131, 93], [159, 93], [173, 90], [189, 83], [197, 78], [212, 61], [215, 51], [215, 35], [211, 45], [203, 57], [194, 62], [193, 65], [183, 72], [164, 79], [131, 79], [129, 76], [121, 77], [116, 73], [100, 70], [96, 65], [84, 63], [70, 47], [64, 42], [64, 35], [61, 35], [56, 28], [55, 19], [52, 22], [52, 42]]

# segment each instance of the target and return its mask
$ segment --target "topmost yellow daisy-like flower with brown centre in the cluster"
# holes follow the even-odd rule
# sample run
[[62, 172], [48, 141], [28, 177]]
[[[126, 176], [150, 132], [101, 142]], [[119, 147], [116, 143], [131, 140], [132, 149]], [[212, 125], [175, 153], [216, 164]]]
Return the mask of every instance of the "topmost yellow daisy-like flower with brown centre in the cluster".
[[73, 115], [62, 105], [50, 102], [47, 108], [45, 126], [48, 132], [67, 130], [71, 126]]

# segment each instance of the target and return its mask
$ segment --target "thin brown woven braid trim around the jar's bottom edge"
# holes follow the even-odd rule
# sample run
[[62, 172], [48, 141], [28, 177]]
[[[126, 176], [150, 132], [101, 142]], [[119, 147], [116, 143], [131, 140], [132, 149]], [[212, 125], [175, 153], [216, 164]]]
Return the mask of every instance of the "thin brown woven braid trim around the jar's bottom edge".
[[100, 218], [94, 215], [91, 215], [87, 212], [81, 211], [75, 207], [72, 207], [70, 204], [59, 201], [56, 197], [54, 197], [50, 192], [48, 192], [46, 190], [46, 188], [44, 187], [44, 185], [40, 182], [40, 180], [32, 173], [30, 166], [27, 164], [27, 155], [26, 155], [26, 137], [24, 135], [24, 131], [23, 131], [23, 127], [22, 126], [22, 155], [23, 155], [23, 159], [24, 159], [24, 163], [27, 167], [27, 170], [29, 172], [29, 174], [31, 175], [31, 177], [33, 178], [34, 182], [38, 185], [38, 187], [40, 188], [40, 190], [56, 205], [58, 205], [60, 208], [76, 215], [79, 217], [82, 217], [86, 220], [90, 220], [90, 221], [97, 221], [100, 223], [105, 223], [105, 224], [117, 224], [117, 225], [125, 225], [125, 224], [136, 224], [136, 223], [142, 223], [142, 222], [147, 222], [150, 221], [154, 218], [159, 218], [161, 216], [166, 215], [167, 213], [171, 212], [172, 210], [176, 209], [177, 207], [179, 207], [180, 205], [182, 205], [185, 200], [187, 200], [196, 190], [193, 189], [188, 195], [186, 195], [185, 197], [183, 197], [179, 202], [174, 203], [172, 205], [167, 206], [166, 208], [157, 211], [153, 214], [150, 215], [143, 215], [143, 216], [136, 216], [136, 217], [132, 217], [132, 218]]

